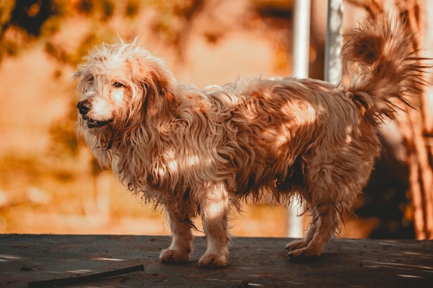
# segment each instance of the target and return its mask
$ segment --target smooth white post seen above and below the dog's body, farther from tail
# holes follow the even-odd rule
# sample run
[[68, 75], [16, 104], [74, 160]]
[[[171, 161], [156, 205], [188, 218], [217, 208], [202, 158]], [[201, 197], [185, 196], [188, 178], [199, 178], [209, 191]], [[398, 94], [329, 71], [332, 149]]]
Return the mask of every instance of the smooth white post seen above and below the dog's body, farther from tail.
[[[311, 0], [295, 0], [293, 8], [293, 76], [308, 78]], [[287, 237], [302, 238], [300, 209], [300, 202], [292, 198], [287, 209]]]

